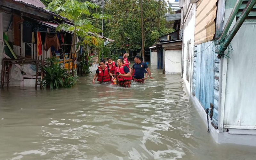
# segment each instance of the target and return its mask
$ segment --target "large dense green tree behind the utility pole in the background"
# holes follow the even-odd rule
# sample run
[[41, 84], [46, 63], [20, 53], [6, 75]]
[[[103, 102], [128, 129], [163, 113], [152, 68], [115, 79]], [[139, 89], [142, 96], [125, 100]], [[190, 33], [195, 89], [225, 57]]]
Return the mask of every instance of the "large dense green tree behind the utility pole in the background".
[[[128, 52], [130, 49], [141, 49], [140, 1], [107, 0], [105, 12], [111, 15], [107, 20], [105, 35], [116, 40], [116, 46]], [[149, 47], [164, 34], [174, 31], [165, 27], [165, 14], [171, 12], [164, 0], [143, 1], [144, 46]], [[142, 51], [140, 51], [141, 53]]]

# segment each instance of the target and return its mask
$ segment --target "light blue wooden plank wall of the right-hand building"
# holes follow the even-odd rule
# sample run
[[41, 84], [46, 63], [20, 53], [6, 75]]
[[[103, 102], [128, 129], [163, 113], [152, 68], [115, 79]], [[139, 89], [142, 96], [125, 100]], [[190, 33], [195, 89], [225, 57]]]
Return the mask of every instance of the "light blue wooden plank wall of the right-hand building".
[[195, 46], [194, 67], [193, 67], [193, 87], [192, 94], [200, 101], [202, 106], [210, 108], [213, 104], [212, 123], [218, 126], [218, 100], [219, 100], [219, 59], [214, 41], [205, 42]]

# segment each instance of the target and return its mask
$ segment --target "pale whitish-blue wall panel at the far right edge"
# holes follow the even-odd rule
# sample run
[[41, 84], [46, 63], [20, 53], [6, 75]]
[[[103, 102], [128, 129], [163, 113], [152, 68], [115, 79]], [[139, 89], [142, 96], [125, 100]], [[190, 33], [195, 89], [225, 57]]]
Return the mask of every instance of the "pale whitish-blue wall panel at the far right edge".
[[256, 126], [256, 24], [243, 24], [231, 44], [224, 125]]

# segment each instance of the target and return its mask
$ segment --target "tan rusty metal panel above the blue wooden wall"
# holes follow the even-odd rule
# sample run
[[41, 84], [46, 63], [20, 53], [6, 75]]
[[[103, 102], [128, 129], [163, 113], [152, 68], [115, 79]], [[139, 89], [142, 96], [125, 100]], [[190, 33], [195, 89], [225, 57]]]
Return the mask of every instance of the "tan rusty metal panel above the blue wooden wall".
[[195, 45], [211, 41], [215, 34], [217, 0], [200, 0], [196, 3]]

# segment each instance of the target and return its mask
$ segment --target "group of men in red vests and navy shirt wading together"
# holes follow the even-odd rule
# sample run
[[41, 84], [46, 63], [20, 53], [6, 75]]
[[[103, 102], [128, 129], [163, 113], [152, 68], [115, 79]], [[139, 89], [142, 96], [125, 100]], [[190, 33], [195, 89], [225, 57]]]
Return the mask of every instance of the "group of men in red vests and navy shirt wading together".
[[[153, 79], [148, 65], [142, 62], [139, 56], [134, 57], [135, 64], [132, 68], [129, 66], [130, 62], [125, 53], [123, 58], [117, 60], [117, 64], [110, 57], [107, 60], [106, 63], [104, 60], [100, 60], [100, 65], [93, 77], [92, 84], [95, 84], [94, 81], [97, 78], [99, 83], [116, 81], [119, 86], [129, 88], [131, 80], [144, 83], [145, 79], [148, 78], [148, 74], [149, 78]], [[146, 76], [144, 76], [144, 73], [146, 73]]]

